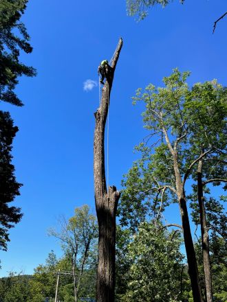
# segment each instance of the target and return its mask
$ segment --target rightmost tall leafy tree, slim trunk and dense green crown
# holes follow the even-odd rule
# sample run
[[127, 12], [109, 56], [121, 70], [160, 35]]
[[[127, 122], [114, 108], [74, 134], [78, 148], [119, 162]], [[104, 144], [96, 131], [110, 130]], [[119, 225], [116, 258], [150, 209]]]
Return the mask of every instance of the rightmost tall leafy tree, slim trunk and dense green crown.
[[[186, 110], [189, 109], [190, 112], [188, 119], [191, 119], [191, 123], [188, 123], [188, 128], [193, 133], [193, 137], [190, 139], [190, 153], [203, 154], [210, 149], [210, 146], [213, 146], [213, 151], [210, 154], [199, 159], [197, 171], [193, 173], [193, 178], [197, 182], [196, 190], [199, 205], [199, 224], [202, 234], [202, 255], [207, 302], [213, 301], [213, 294], [204, 191], [209, 191], [206, 188], [208, 183], [220, 185], [221, 182], [227, 182], [227, 179], [225, 179], [226, 162], [224, 161], [226, 157], [227, 130], [225, 122], [227, 107], [225, 100], [226, 89], [223, 89], [221, 85], [217, 84], [216, 80], [213, 80], [212, 82], [195, 84], [190, 93], [188, 93], [185, 104]], [[215, 207], [213, 213], [215, 213]]]

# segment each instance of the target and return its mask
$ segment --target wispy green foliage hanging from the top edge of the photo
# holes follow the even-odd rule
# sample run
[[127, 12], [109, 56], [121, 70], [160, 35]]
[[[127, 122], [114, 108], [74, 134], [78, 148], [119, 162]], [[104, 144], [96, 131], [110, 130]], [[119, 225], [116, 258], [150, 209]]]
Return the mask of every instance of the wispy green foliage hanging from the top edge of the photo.
[[[127, 13], [129, 16], [138, 16], [138, 21], [143, 20], [148, 15], [148, 10], [157, 4], [164, 8], [173, 0], [127, 0]], [[183, 3], [184, 0], [180, 0]]]

